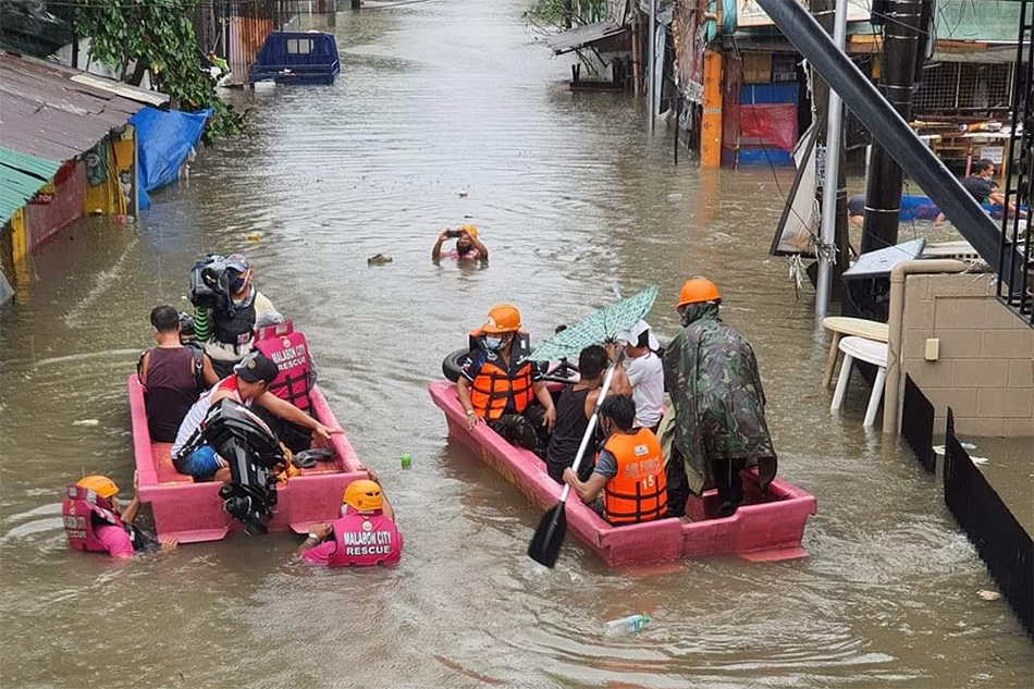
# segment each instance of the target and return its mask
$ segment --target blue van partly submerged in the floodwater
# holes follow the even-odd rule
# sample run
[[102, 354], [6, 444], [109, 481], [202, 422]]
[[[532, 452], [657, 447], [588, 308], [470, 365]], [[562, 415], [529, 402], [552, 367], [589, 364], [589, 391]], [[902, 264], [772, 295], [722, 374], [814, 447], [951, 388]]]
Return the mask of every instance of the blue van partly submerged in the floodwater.
[[273, 32], [266, 37], [248, 81], [333, 84], [341, 72], [337, 41], [321, 32]]

